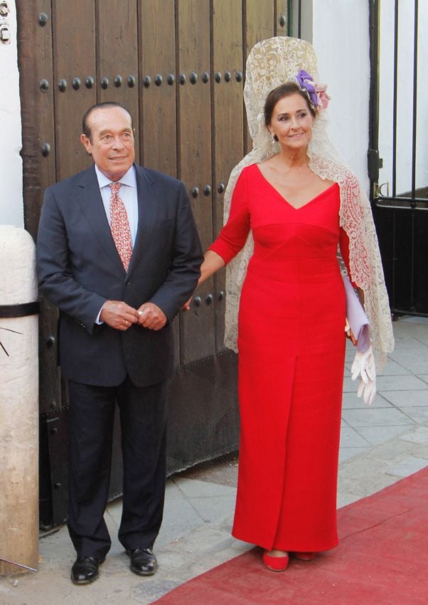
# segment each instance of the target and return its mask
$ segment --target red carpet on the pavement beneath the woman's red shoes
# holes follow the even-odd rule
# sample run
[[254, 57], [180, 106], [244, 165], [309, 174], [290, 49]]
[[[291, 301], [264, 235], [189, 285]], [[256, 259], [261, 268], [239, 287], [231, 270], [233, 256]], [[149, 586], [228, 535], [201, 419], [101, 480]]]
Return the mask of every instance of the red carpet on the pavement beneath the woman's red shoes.
[[254, 548], [159, 605], [427, 605], [428, 467], [338, 511], [339, 546], [284, 573]]

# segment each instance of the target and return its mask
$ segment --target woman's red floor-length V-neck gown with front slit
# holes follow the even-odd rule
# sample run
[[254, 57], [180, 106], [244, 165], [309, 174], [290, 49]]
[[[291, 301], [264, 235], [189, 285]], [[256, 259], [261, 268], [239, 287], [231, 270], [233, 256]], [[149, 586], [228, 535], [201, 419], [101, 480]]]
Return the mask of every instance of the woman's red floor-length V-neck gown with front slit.
[[210, 247], [228, 263], [252, 229], [238, 320], [241, 435], [232, 535], [265, 549], [317, 552], [338, 543], [341, 240], [348, 251], [339, 203], [333, 184], [295, 209], [252, 164]]

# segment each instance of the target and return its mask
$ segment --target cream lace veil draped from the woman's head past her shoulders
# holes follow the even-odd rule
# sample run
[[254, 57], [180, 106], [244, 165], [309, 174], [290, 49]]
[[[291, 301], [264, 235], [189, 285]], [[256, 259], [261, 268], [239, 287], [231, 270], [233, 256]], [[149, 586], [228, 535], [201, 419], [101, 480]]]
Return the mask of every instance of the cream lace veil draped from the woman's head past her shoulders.
[[[272, 144], [264, 123], [264, 102], [268, 93], [283, 83], [296, 81], [296, 74], [302, 69], [311, 75], [314, 82], [318, 81], [316, 55], [309, 42], [276, 37], [261, 41], [252, 48], [247, 59], [244, 99], [253, 147], [230, 173], [225, 191], [224, 222], [228, 220], [233, 190], [242, 169], [279, 152], [279, 144]], [[364, 290], [373, 349], [378, 367], [382, 367], [387, 352], [394, 347], [394, 337], [373, 216], [358, 179], [341, 162], [328, 138], [327, 126], [328, 118], [323, 110], [314, 121], [308, 149], [309, 167], [321, 179], [335, 181], [340, 186], [340, 224], [349, 237], [351, 277]], [[242, 251], [226, 268], [225, 345], [235, 351], [240, 293], [252, 251], [250, 234]]]

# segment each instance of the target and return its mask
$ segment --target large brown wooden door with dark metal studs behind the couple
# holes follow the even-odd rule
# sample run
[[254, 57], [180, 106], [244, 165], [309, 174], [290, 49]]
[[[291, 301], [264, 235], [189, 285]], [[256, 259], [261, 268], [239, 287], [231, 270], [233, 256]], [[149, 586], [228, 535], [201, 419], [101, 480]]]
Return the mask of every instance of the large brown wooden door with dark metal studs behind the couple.
[[[114, 100], [131, 112], [137, 159], [183, 180], [206, 248], [223, 224], [232, 167], [250, 148], [242, 88], [253, 44], [287, 35], [287, 0], [16, 0], [26, 228], [46, 186], [90, 165], [82, 115]], [[123, 6], [122, 6], [123, 5]], [[118, 6], [120, 7], [118, 9]], [[238, 447], [236, 356], [223, 345], [224, 272], [174, 322], [168, 472]], [[66, 384], [57, 312], [43, 301], [41, 522], [66, 516]], [[110, 497], [121, 491], [119, 433]]]

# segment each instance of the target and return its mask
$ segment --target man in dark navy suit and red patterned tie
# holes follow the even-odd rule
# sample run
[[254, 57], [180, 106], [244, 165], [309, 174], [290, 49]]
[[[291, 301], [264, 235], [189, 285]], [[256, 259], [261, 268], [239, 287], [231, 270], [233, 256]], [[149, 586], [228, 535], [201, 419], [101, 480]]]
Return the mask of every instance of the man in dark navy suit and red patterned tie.
[[116, 403], [119, 540], [132, 572], [156, 572], [171, 324], [196, 287], [203, 256], [181, 181], [134, 164], [132, 117], [122, 105], [90, 107], [80, 140], [94, 164], [46, 189], [37, 251], [41, 292], [60, 311], [59, 363], [70, 396], [71, 579], [87, 584], [111, 545], [103, 515]]

